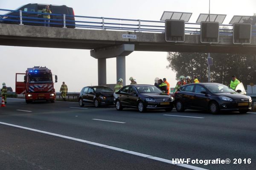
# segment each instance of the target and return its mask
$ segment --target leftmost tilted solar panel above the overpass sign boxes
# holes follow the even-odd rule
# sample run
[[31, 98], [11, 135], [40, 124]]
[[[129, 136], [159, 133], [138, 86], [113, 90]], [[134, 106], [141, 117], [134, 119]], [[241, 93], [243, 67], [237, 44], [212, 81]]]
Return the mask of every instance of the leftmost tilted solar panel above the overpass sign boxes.
[[192, 13], [189, 12], [172, 12], [172, 11], [164, 11], [161, 17], [161, 21], [165, 20], [184, 20], [188, 22]]

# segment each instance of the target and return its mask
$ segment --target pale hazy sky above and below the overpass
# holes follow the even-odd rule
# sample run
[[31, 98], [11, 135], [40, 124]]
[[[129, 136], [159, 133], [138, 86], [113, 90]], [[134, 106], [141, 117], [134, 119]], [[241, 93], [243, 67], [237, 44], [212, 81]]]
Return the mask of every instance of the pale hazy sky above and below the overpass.
[[[0, 8], [16, 9], [27, 3], [67, 5], [82, 16], [136, 20], [160, 20], [163, 11], [192, 12], [191, 23], [195, 23], [200, 13], [209, 11], [209, 0], [0, 0]], [[224, 20], [227, 24], [233, 15], [256, 13], [256, 0], [211, 0], [210, 10], [212, 14], [227, 14]], [[140, 84], [153, 84], [155, 77], [166, 77], [170, 86], [175, 87], [175, 73], [166, 69], [166, 55], [166, 52], [131, 53], [126, 57], [126, 82], [131, 76]], [[24, 73], [34, 65], [47, 66], [58, 75], [56, 91], [62, 81], [69, 92], [98, 84], [97, 59], [90, 57], [89, 50], [0, 46], [0, 57], [0, 82], [6, 82], [14, 90], [15, 73]], [[116, 83], [116, 58], [107, 59], [107, 83]]]

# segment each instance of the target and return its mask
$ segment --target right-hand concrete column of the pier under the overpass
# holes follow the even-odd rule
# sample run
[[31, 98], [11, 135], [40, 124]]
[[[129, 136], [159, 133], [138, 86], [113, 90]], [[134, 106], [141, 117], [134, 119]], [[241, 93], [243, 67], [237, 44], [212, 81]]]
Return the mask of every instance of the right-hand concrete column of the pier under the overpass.
[[123, 86], [125, 86], [125, 56], [116, 57], [116, 79], [123, 79]]

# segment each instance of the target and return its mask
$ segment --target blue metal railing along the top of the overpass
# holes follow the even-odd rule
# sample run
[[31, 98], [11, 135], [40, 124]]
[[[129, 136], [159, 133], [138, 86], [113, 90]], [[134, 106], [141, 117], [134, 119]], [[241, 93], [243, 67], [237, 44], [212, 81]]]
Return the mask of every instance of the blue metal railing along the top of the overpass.
[[[44, 18], [50, 15], [50, 19]], [[158, 32], [165, 31], [164, 21], [130, 20], [108, 17], [89, 17], [67, 14], [46, 14], [34, 11], [16, 11], [0, 9], [0, 23], [49, 26], [62, 28], [84, 28], [100, 30], [118, 30], [135, 32]], [[200, 34], [200, 23], [186, 23], [185, 34]], [[233, 25], [220, 25], [220, 34], [233, 35]], [[252, 35], [256, 36], [256, 26], [252, 28]]]

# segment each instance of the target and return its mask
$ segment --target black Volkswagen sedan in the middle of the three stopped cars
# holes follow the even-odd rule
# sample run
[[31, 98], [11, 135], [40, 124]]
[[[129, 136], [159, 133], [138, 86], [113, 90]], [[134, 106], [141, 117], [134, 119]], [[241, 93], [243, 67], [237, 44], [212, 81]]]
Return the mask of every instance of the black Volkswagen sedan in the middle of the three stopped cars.
[[127, 85], [114, 93], [116, 110], [138, 108], [140, 112], [147, 109], [165, 109], [172, 111], [173, 97], [163, 94], [154, 85]]

